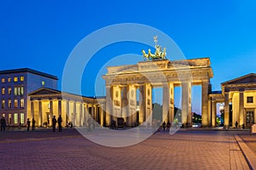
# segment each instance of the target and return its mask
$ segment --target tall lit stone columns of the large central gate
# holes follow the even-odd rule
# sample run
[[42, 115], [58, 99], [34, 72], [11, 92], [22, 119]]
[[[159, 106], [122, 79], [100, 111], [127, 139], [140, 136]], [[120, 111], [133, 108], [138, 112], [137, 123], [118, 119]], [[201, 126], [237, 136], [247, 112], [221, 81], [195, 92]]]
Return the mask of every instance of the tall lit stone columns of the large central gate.
[[[199, 82], [196, 82], [198, 85]], [[181, 86], [182, 88], [182, 115], [181, 123], [186, 126], [192, 126], [191, 116], [191, 88], [193, 82], [166, 82], [158, 84], [163, 90], [162, 113], [160, 117], [161, 122], [174, 121], [174, 88]], [[128, 126], [141, 124], [148, 119], [152, 125], [153, 118], [153, 103], [152, 90], [154, 84], [129, 84], [129, 85], [115, 85], [106, 87], [106, 112], [108, 115], [107, 124], [110, 125], [111, 120], [116, 117], [124, 117]], [[208, 126], [210, 119], [208, 113], [208, 90], [209, 82], [201, 81], [201, 110], [202, 110], [202, 124]], [[137, 90], [138, 89], [138, 90]], [[137, 94], [139, 93], [139, 94]], [[139, 96], [137, 99], [137, 96]], [[138, 103], [137, 103], [138, 101]], [[137, 117], [138, 114], [138, 117]], [[155, 113], [154, 113], [155, 114]], [[159, 113], [158, 113], [159, 114]], [[138, 120], [136, 119], [138, 118]]]

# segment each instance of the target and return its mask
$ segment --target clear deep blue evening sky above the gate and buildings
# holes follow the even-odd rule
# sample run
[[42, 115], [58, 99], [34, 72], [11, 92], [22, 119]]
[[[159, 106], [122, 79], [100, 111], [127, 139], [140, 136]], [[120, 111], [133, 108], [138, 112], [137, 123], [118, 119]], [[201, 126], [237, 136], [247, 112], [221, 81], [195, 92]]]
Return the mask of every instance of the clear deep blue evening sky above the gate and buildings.
[[[220, 90], [221, 82], [256, 72], [255, 8], [253, 0], [1, 1], [0, 70], [28, 67], [44, 71], [59, 77], [61, 89], [68, 55], [85, 36], [104, 26], [139, 23], [172, 37], [187, 59], [210, 57], [212, 90]], [[109, 59], [141, 54], [142, 48], [142, 44], [127, 42], [99, 51], [84, 71], [82, 94], [95, 95], [96, 76]], [[168, 53], [172, 51], [167, 49]], [[193, 110], [200, 113], [197, 93], [198, 87]]]

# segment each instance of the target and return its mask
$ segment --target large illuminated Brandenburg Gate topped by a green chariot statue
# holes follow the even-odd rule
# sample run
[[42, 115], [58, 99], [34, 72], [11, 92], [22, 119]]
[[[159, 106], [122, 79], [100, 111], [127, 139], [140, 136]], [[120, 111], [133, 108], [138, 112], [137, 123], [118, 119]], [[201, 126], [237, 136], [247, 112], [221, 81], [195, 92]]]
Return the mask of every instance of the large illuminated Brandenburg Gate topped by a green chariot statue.
[[[166, 48], [161, 51], [155, 45], [155, 53], [143, 50], [146, 61], [136, 65], [109, 66], [106, 81], [106, 123], [111, 124], [116, 117], [124, 117], [128, 126], [134, 126], [149, 119], [152, 122], [152, 90], [163, 88], [162, 120], [174, 120], [174, 88], [181, 87], [181, 122], [192, 126], [191, 87], [201, 85], [202, 126], [209, 126], [211, 115], [208, 111], [208, 94], [212, 67], [209, 58], [166, 59]], [[138, 97], [139, 96], [139, 97]], [[137, 99], [139, 98], [139, 99]], [[137, 102], [138, 101], [138, 102]]]

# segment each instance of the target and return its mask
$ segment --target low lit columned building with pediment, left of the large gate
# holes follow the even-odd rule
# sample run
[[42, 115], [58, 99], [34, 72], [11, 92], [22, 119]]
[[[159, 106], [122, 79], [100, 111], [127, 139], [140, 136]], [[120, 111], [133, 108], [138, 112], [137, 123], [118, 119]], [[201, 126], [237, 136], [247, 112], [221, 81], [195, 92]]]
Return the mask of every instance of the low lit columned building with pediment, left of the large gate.
[[51, 88], [39, 88], [28, 96], [28, 116], [34, 117], [38, 127], [44, 126], [45, 122], [51, 126], [53, 116], [60, 115], [62, 126], [72, 123], [75, 127], [84, 127], [90, 118], [106, 126], [105, 98], [84, 97]]

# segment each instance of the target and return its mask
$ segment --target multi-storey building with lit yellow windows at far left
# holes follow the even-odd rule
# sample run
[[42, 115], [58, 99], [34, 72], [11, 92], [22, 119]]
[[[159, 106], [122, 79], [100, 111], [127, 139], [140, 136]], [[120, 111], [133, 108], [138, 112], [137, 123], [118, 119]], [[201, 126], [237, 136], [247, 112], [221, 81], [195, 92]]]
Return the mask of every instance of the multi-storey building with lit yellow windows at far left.
[[[27, 94], [38, 88], [57, 88], [58, 78], [28, 68], [0, 71], [0, 114], [7, 125], [26, 124], [29, 108]], [[32, 118], [31, 118], [32, 119]]]

